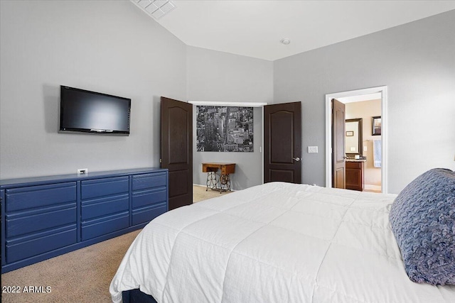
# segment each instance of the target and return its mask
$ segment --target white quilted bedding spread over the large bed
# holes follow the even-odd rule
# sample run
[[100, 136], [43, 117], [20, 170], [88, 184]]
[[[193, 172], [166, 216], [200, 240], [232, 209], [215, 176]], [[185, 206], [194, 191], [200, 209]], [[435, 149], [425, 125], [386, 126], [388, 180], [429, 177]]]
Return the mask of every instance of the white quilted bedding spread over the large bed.
[[455, 286], [406, 275], [394, 194], [267, 183], [151, 221], [109, 291], [157, 302], [455, 302]]

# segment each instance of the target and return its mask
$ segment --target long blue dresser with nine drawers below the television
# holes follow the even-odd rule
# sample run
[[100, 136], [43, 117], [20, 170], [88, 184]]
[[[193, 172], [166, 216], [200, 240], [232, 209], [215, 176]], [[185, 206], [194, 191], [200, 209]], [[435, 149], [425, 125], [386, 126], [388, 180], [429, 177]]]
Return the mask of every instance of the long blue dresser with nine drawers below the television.
[[1, 273], [144, 227], [168, 211], [168, 170], [0, 180]]

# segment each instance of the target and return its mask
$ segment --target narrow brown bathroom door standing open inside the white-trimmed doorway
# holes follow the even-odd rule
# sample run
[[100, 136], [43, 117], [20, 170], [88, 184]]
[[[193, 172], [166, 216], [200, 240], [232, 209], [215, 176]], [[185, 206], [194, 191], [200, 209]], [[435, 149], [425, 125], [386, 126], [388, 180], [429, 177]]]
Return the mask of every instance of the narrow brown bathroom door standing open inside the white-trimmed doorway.
[[332, 99], [332, 187], [346, 188], [345, 105]]

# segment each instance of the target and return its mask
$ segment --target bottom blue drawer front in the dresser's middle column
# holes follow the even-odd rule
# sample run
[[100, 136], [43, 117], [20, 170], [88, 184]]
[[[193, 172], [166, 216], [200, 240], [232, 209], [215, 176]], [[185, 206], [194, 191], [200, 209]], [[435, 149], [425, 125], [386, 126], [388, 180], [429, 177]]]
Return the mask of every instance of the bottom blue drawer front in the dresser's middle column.
[[102, 219], [82, 222], [82, 241], [118, 231], [129, 226], [128, 211]]

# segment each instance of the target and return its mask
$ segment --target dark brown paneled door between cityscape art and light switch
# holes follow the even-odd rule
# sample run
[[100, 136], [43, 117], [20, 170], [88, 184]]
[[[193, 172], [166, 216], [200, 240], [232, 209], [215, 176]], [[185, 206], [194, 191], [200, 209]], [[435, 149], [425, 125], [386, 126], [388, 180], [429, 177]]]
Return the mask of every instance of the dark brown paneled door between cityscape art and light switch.
[[301, 183], [301, 103], [264, 106], [264, 182]]

